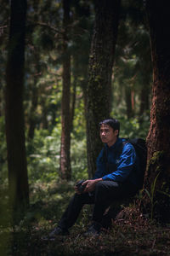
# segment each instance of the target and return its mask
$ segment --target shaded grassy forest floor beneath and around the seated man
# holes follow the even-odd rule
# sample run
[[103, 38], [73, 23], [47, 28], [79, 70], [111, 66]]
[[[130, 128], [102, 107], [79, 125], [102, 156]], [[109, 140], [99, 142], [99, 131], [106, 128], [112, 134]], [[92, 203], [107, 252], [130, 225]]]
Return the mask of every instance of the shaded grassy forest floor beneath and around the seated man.
[[85, 237], [91, 208], [84, 207], [70, 236], [44, 241], [54, 229], [73, 193], [73, 183], [36, 183], [31, 186], [31, 204], [18, 224], [11, 224], [5, 201], [1, 204], [0, 255], [170, 255], [170, 224], [161, 225], [139, 214], [135, 205], [126, 208], [124, 218], [112, 223], [100, 236]]

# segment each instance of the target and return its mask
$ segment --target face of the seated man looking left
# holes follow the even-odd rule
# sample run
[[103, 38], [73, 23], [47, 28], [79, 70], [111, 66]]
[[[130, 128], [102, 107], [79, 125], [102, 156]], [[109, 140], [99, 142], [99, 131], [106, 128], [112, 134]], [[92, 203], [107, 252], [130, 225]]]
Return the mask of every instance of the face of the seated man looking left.
[[100, 126], [99, 135], [102, 143], [107, 143], [109, 147], [111, 147], [114, 143], [116, 143], [118, 130], [114, 131], [110, 125], [102, 124]]

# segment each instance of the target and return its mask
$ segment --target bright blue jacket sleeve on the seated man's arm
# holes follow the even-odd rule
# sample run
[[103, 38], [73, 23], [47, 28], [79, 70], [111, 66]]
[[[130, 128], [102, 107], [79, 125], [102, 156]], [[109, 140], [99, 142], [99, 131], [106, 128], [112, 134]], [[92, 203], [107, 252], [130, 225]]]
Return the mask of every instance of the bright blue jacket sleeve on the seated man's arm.
[[136, 153], [133, 145], [126, 143], [122, 149], [116, 172], [111, 172], [102, 177], [103, 180], [112, 180], [116, 182], [124, 182], [133, 170], [136, 160]]

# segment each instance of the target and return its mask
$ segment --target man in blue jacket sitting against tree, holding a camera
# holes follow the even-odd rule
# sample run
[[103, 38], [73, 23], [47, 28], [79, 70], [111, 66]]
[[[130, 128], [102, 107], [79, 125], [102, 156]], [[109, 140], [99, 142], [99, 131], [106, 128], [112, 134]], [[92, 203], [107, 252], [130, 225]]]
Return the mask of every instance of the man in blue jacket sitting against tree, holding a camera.
[[119, 131], [120, 123], [116, 119], [105, 119], [99, 123], [99, 134], [105, 147], [97, 159], [94, 178], [82, 183], [85, 185], [82, 193], [75, 186], [76, 194], [49, 237], [69, 234], [68, 230], [75, 224], [84, 204], [94, 204], [92, 225], [85, 235], [99, 235], [105, 210], [111, 203], [138, 191], [137, 156], [132, 144], [122, 146], [125, 139], [119, 138]]

